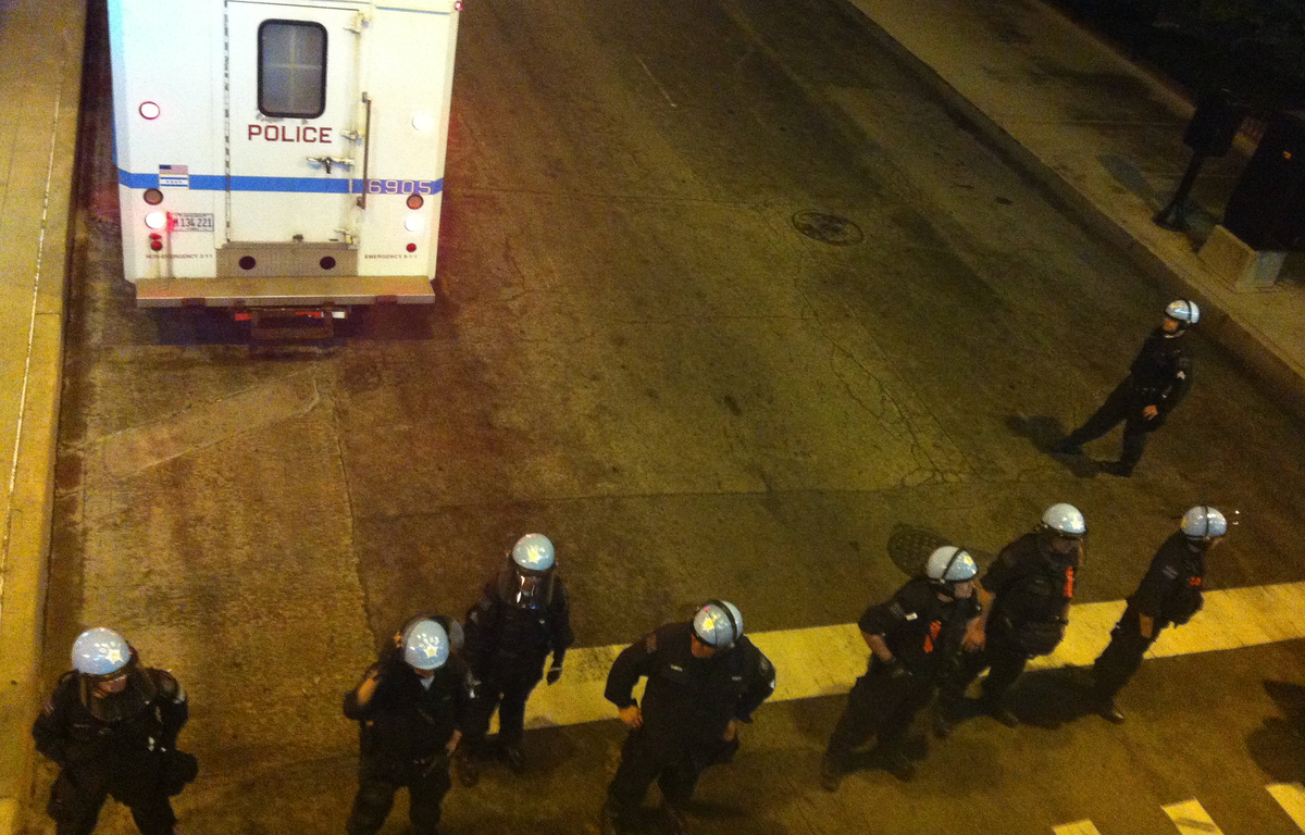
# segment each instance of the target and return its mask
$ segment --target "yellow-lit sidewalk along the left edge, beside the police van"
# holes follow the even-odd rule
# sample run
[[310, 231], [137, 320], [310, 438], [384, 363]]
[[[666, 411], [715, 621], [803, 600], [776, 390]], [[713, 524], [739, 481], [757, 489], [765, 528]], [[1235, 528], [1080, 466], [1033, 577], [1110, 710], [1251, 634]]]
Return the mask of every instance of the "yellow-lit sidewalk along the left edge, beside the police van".
[[0, 4], [0, 835], [21, 826], [39, 703], [85, 17]]

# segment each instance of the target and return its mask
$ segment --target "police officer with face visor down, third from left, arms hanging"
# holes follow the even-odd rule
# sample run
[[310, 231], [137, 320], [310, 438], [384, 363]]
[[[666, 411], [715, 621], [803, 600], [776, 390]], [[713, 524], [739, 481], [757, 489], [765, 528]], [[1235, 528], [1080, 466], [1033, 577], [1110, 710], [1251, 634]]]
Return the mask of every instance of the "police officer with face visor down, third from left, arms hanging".
[[561, 678], [566, 647], [576, 641], [566, 587], [557, 577], [553, 543], [547, 536], [526, 534], [517, 540], [506, 565], [467, 611], [466, 633], [467, 663], [478, 684], [458, 771], [463, 785], [475, 785], [495, 708], [499, 750], [513, 771], [525, 770], [521, 738], [526, 699], [544, 677], [549, 652], [548, 684]]

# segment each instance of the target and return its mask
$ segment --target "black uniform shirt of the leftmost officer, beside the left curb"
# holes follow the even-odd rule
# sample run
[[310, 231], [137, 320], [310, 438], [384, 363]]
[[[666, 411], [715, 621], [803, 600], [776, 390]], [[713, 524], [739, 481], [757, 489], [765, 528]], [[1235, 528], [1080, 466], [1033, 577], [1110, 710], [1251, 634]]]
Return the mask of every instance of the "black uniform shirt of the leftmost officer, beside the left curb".
[[191, 718], [181, 685], [153, 667], [129, 675], [149, 677], [154, 697], [133, 716], [103, 721], [82, 705], [81, 676], [64, 673], [31, 728], [37, 750], [60, 766], [128, 778], [153, 759], [153, 752], [176, 748], [176, 736]]

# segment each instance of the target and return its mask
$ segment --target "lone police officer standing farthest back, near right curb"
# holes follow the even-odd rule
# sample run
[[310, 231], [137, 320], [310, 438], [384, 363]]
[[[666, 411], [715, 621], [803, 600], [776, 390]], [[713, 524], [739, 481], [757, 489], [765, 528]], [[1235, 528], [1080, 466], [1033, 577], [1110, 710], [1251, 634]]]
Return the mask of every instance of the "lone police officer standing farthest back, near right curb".
[[1096, 412], [1078, 429], [1070, 432], [1053, 446], [1064, 455], [1079, 455], [1083, 444], [1096, 440], [1124, 421], [1124, 448], [1117, 462], [1107, 464], [1107, 472], [1128, 478], [1142, 459], [1147, 433], [1159, 429], [1173, 407], [1191, 386], [1191, 355], [1188, 350], [1188, 330], [1201, 318], [1201, 308], [1190, 299], [1171, 301], [1164, 309], [1164, 320], [1156, 327], [1114, 391], [1105, 398]]

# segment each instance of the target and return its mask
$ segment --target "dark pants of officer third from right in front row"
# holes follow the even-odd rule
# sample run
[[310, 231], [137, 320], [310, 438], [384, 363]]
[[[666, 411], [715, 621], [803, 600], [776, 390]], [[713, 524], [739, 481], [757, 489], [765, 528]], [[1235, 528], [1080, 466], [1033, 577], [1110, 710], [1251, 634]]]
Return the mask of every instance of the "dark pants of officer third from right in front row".
[[890, 678], [878, 659], [856, 680], [847, 694], [847, 707], [834, 725], [825, 755], [846, 767], [852, 752], [876, 737], [880, 746], [902, 742], [911, 723], [933, 698], [934, 680], [907, 675]]

